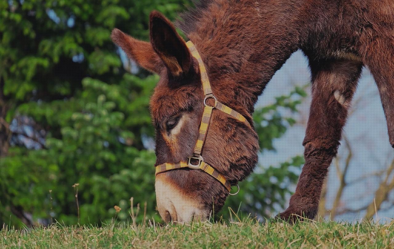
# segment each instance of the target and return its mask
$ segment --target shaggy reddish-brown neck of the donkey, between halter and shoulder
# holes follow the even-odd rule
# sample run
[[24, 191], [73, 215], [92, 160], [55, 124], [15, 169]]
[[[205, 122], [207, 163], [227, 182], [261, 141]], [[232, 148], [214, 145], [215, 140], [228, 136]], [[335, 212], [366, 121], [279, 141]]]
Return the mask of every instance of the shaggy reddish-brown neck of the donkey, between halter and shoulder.
[[203, 1], [182, 15], [180, 28], [201, 54], [214, 93], [241, 113], [253, 113], [268, 81], [306, 36], [299, 8], [272, 2]]

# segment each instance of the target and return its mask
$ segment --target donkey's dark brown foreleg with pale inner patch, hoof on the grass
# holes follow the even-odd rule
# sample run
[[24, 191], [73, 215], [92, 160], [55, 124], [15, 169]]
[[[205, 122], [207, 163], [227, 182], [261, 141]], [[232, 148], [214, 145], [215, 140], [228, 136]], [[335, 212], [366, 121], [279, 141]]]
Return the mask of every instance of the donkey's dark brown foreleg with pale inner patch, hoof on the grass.
[[312, 103], [303, 141], [305, 164], [296, 192], [280, 218], [294, 221], [316, 215], [323, 180], [340, 144], [361, 67], [360, 62], [310, 59]]

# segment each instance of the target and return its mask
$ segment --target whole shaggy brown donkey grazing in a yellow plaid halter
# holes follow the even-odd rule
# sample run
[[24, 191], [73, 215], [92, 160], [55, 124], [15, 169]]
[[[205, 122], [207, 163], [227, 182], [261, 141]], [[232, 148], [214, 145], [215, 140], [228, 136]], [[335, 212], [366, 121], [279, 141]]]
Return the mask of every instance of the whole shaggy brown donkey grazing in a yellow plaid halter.
[[[204, 0], [196, 5], [178, 25], [188, 44], [157, 11], [150, 16], [151, 42], [112, 32], [130, 58], [160, 75], [151, 99], [160, 215], [178, 222], [207, 218], [212, 207], [223, 206], [229, 184], [253, 171], [258, 152], [258, 137], [249, 125], [253, 105], [273, 74], [301, 49], [309, 58], [313, 98], [303, 141], [305, 165], [289, 207], [279, 216], [313, 218], [363, 65], [375, 77], [394, 145], [393, 0]], [[212, 87], [211, 94], [203, 84]]]

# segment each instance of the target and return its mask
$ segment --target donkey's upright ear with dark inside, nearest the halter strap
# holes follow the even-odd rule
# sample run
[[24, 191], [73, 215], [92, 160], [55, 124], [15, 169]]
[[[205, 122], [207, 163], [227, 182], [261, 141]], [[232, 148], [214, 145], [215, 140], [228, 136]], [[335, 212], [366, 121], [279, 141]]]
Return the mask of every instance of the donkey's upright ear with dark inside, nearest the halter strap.
[[158, 11], [151, 12], [150, 34], [153, 49], [173, 76], [189, 71], [191, 54], [186, 42], [173, 24]]

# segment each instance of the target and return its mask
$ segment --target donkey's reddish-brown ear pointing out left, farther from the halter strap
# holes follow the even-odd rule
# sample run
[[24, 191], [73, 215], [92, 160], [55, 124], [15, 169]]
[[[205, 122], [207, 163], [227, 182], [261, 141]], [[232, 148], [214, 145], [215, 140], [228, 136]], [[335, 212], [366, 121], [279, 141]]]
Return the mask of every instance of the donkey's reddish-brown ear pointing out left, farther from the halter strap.
[[125, 51], [130, 59], [136, 61], [143, 68], [156, 74], [159, 74], [164, 68], [164, 63], [154, 52], [149, 42], [134, 39], [116, 28], [112, 30], [111, 39]]

